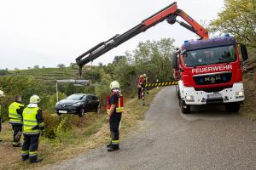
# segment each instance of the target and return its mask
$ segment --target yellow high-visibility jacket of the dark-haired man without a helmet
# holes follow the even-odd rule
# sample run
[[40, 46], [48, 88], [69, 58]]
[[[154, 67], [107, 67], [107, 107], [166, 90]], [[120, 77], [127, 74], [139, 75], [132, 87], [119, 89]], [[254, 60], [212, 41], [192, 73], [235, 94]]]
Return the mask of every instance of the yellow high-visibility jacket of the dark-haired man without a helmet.
[[15, 124], [22, 124], [22, 117], [17, 112], [20, 107], [24, 107], [23, 104], [20, 104], [18, 102], [13, 102], [11, 105], [9, 105], [9, 122], [15, 123]]

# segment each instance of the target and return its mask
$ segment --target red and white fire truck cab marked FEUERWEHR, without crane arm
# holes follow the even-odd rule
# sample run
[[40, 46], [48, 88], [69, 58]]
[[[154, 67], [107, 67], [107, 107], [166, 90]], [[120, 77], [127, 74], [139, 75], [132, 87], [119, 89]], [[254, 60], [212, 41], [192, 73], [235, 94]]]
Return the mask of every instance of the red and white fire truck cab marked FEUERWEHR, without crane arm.
[[226, 111], [239, 111], [245, 99], [241, 82], [241, 60], [245, 59], [246, 46], [229, 35], [185, 41], [172, 55], [181, 111], [189, 113], [190, 105], [207, 104], [224, 104]]

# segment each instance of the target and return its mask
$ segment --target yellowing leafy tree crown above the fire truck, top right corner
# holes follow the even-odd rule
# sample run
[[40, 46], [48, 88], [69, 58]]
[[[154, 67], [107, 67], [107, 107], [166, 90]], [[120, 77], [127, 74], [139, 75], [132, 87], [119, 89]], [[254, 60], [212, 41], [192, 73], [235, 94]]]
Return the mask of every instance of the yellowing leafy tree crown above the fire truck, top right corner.
[[224, 4], [210, 31], [231, 33], [238, 42], [256, 48], [256, 0], [225, 0]]

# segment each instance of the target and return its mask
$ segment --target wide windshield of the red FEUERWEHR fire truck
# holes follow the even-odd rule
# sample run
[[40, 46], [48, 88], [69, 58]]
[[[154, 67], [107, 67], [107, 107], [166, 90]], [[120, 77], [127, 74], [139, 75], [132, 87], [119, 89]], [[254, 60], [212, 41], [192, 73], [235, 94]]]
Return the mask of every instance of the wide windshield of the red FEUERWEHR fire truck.
[[236, 61], [235, 45], [187, 51], [185, 66], [214, 65]]

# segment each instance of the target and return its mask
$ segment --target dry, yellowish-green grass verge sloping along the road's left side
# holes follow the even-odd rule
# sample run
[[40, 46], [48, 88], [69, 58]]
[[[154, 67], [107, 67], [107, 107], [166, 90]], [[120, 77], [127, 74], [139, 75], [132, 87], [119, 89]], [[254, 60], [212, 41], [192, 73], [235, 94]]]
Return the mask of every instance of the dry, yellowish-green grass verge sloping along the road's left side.
[[[158, 91], [156, 88], [151, 90], [150, 95], [146, 97], [146, 103], [150, 103]], [[131, 135], [131, 132], [137, 131], [139, 128], [137, 122], [143, 120], [146, 111], [148, 111], [148, 105], [141, 105], [138, 99], [125, 99], [125, 112], [122, 116], [120, 131], [120, 139], [122, 141], [125, 140], [125, 137]], [[37, 165], [30, 165], [27, 162], [20, 161], [20, 149], [13, 150], [11, 147], [11, 127], [8, 123], [4, 123], [1, 138], [4, 140], [2, 151], [6, 154], [2, 155], [3, 158], [0, 159], [0, 169], [34, 169], [36, 167], [50, 166], [50, 164], [57, 161], [77, 156], [80, 153], [108, 143], [109, 127], [106, 122], [106, 114], [88, 113], [81, 119], [79, 116], [68, 116], [68, 119], [70, 120], [68, 123], [73, 123], [72, 128], [67, 128], [59, 133], [56, 139], [40, 137], [38, 152], [39, 156], [44, 158], [44, 161]]]

